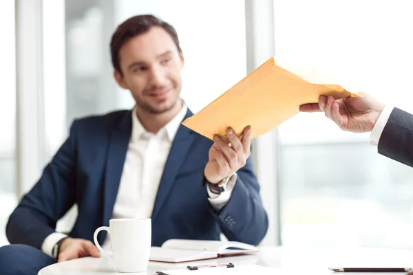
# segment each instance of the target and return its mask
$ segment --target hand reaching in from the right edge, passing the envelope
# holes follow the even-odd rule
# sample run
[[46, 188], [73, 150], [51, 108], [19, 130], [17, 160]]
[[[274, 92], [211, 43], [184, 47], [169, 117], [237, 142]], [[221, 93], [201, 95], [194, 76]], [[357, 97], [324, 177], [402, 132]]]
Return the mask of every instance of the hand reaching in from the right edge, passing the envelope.
[[301, 105], [299, 111], [322, 111], [342, 130], [363, 133], [372, 131], [383, 108], [384, 104], [370, 96], [338, 100], [332, 96], [320, 96], [318, 103]]

